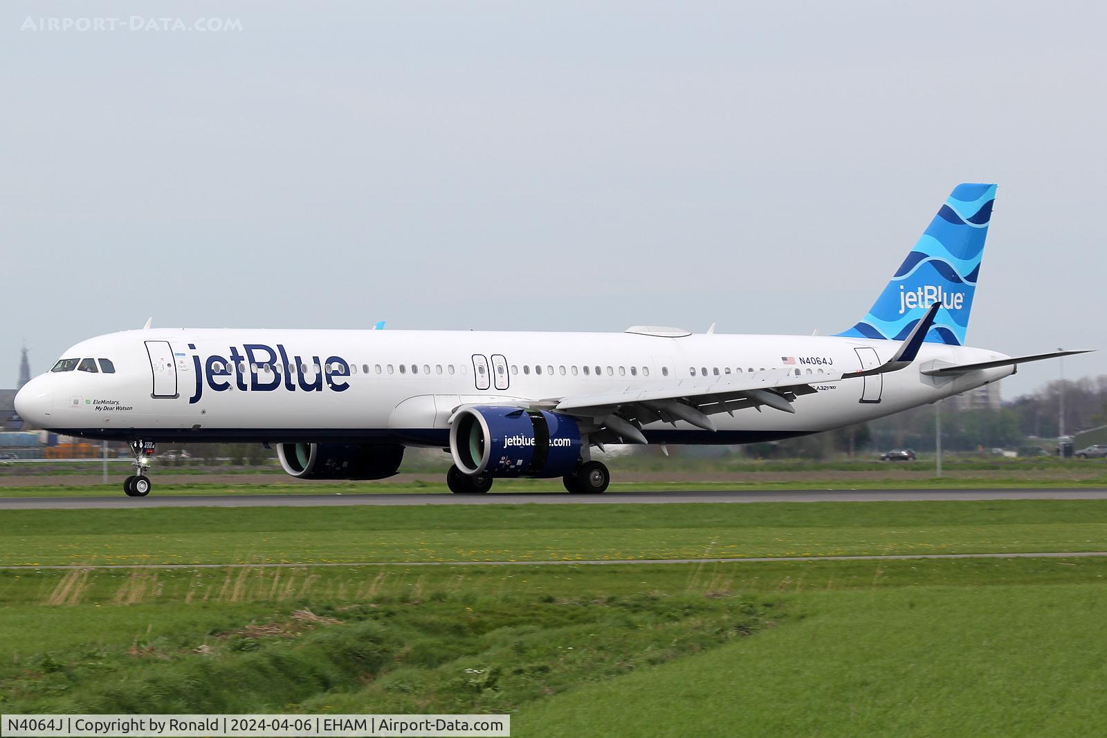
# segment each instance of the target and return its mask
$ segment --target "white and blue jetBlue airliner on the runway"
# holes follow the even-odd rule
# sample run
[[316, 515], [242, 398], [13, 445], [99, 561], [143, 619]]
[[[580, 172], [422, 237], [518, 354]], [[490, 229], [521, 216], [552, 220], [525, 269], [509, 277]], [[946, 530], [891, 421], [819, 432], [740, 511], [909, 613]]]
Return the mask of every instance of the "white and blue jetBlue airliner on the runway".
[[607, 444], [747, 444], [871, 420], [1024, 362], [964, 344], [995, 185], [958, 185], [869, 312], [828, 336], [153, 329], [83, 341], [15, 397], [35, 426], [126, 440], [149, 493], [161, 441], [272, 444], [300, 479], [381, 479], [448, 449], [454, 492], [562, 477], [602, 492]]

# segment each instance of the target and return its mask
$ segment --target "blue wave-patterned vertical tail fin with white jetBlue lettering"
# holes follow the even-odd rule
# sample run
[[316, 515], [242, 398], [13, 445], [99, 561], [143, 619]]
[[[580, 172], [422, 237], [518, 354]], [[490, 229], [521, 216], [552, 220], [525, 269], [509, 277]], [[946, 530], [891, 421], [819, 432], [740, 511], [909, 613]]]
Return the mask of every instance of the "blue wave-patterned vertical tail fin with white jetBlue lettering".
[[927, 342], [962, 345], [995, 185], [958, 185], [869, 312], [838, 335], [902, 341], [935, 302]]

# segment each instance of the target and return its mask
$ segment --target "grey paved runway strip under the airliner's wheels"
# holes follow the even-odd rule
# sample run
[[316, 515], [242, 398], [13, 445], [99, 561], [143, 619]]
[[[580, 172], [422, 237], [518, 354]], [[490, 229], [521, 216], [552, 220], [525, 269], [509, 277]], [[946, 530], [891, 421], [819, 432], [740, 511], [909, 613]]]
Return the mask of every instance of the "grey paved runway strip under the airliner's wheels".
[[773, 491], [656, 491], [570, 495], [489, 492], [487, 495], [190, 495], [126, 497], [3, 497], [0, 510], [141, 508], [350, 507], [396, 505], [661, 505], [686, 502], [876, 502], [921, 500], [1103, 500], [1107, 488], [1034, 489], [808, 489]]

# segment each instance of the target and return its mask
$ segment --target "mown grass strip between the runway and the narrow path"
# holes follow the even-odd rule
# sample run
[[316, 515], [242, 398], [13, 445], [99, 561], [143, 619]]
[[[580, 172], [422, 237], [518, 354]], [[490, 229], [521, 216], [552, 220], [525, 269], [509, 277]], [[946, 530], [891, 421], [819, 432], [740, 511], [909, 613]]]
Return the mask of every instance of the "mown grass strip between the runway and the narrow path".
[[0, 565], [1099, 551], [1107, 500], [6, 510]]

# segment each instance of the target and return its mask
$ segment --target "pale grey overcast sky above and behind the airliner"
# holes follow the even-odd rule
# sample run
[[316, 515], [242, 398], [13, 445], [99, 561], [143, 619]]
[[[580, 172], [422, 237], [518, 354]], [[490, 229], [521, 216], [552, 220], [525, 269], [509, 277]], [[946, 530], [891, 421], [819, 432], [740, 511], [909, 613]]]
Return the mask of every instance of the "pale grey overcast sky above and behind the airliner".
[[[4, 3], [0, 386], [148, 315], [834, 333], [961, 181], [968, 342], [1107, 349], [1104, 8]], [[21, 30], [132, 15], [241, 30]]]

